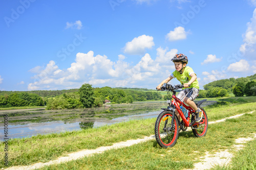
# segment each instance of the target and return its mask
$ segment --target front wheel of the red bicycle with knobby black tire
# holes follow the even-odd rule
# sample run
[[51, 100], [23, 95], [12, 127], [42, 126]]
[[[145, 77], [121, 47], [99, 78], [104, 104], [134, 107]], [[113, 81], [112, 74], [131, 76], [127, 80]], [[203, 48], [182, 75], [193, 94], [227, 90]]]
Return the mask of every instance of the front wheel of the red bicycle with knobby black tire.
[[[172, 119], [174, 118], [174, 126], [172, 126]], [[163, 111], [156, 120], [155, 136], [157, 143], [162, 148], [173, 147], [179, 136], [179, 123], [176, 116], [170, 111]]]

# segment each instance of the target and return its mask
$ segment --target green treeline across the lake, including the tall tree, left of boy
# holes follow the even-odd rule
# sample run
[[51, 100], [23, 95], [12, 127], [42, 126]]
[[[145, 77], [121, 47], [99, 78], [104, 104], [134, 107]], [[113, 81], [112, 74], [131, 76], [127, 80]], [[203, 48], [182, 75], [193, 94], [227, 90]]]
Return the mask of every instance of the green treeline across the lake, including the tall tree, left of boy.
[[133, 103], [134, 101], [161, 100], [159, 92], [137, 91], [111, 87], [92, 88], [83, 84], [78, 92], [64, 93], [49, 99], [46, 109], [75, 109], [102, 106], [105, 100], [116, 103]]

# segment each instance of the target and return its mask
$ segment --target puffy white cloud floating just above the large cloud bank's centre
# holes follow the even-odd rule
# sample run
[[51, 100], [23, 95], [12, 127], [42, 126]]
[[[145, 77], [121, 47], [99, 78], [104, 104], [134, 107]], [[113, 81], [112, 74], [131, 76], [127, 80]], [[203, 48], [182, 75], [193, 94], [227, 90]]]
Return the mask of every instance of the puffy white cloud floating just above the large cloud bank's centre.
[[151, 49], [154, 45], [153, 37], [141, 35], [125, 44], [124, 53], [131, 55], [143, 55], [146, 48]]

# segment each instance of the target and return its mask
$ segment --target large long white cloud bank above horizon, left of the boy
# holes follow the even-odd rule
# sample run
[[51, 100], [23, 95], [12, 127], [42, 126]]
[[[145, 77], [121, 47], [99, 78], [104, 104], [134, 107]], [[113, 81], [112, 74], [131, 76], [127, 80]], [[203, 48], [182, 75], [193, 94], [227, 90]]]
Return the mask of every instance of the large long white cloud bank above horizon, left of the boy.
[[[154, 60], [145, 54], [138, 63], [127, 63], [124, 55], [118, 55], [118, 61], [111, 61], [107, 56], [94, 55], [93, 51], [77, 53], [75, 62], [70, 67], [60, 69], [54, 61], [46, 67], [37, 66], [33, 83], [28, 85], [29, 90], [47, 89], [60, 90], [80, 88], [84, 83], [95, 87], [149, 87], [156, 86], [170, 75], [174, 64], [169, 60], [176, 53], [176, 49], [158, 48], [158, 56]], [[168, 60], [168, 62], [158, 62]], [[38, 71], [39, 70], [39, 71]]]

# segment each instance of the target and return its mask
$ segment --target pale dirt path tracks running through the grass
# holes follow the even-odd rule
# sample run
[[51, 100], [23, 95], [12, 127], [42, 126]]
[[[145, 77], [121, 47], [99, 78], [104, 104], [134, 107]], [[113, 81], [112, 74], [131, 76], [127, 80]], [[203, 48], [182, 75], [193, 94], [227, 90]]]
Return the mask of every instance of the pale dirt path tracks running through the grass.
[[[251, 111], [249, 113], [253, 113], [253, 112], [254, 111]], [[238, 114], [238, 115], [231, 116], [231, 117], [227, 117], [227, 118], [224, 118], [224, 119], [221, 119], [221, 120], [212, 121], [212, 122], [209, 122], [208, 124], [210, 125], [210, 124], [216, 124], [216, 123], [219, 123], [219, 122], [224, 122], [226, 119], [237, 118], [237, 117], [240, 117], [244, 114], [245, 113]], [[239, 144], [234, 145], [233, 147], [237, 150], [240, 150], [241, 148], [243, 148], [243, 145], [241, 143], [243, 143], [245, 141], [248, 141], [248, 140], [252, 140], [254, 138], [256, 138], [256, 134], [254, 134], [253, 138], [239, 138], [239, 139], [237, 139], [237, 143], [239, 143]], [[125, 142], [114, 143], [110, 147], [100, 147], [100, 148], [97, 148], [95, 150], [82, 150], [82, 151], [70, 153], [70, 154], [68, 154], [68, 156], [59, 157], [56, 160], [52, 160], [52, 161], [49, 161], [49, 162], [46, 162], [46, 163], [39, 162], [39, 163], [35, 163], [35, 164], [29, 165], [29, 166], [12, 166], [12, 167], [9, 167], [9, 168], [6, 168], [6, 169], [8, 169], [8, 170], [10, 170], [10, 169], [22, 170], [22, 169], [40, 168], [40, 167], [55, 164], [55, 163], [62, 163], [62, 162], [67, 162], [67, 161], [79, 159], [79, 158], [82, 158], [84, 156], [90, 156], [92, 154], [102, 153], [106, 150], [130, 147], [133, 144], [137, 144], [137, 143], [140, 143], [140, 142], [145, 142], [145, 141], [152, 140], [152, 139], [155, 139], [155, 135], [152, 135], [152, 136], [149, 136], [149, 137], [146, 136], [143, 139], [133, 139], [133, 140], [127, 140]], [[209, 169], [209, 168], [215, 166], [216, 164], [219, 164], [219, 165], [228, 164], [229, 161], [231, 160], [231, 157], [232, 157], [232, 154], [230, 154], [228, 152], [228, 150], [218, 152], [215, 155], [209, 155], [208, 153], [206, 153], [206, 156], [200, 158], [203, 161], [199, 162], [199, 163], [196, 163], [195, 168], [193, 170]]]

